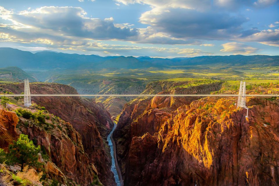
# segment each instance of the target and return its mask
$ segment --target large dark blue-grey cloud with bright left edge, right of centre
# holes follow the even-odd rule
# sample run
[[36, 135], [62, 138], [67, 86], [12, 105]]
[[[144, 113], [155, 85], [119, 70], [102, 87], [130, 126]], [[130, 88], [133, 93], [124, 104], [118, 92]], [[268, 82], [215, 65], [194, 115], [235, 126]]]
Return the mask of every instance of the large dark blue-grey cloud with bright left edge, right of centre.
[[153, 8], [140, 17], [142, 24], [179, 39], [220, 40], [239, 35], [241, 25], [248, 20], [226, 13], [199, 12], [192, 9]]

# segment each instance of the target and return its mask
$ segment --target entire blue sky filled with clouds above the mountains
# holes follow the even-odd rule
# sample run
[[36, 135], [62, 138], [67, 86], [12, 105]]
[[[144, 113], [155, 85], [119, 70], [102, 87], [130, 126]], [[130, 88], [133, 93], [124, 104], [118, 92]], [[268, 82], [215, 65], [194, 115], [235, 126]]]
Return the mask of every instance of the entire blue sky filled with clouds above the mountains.
[[0, 47], [100, 56], [275, 56], [279, 0], [1, 0]]

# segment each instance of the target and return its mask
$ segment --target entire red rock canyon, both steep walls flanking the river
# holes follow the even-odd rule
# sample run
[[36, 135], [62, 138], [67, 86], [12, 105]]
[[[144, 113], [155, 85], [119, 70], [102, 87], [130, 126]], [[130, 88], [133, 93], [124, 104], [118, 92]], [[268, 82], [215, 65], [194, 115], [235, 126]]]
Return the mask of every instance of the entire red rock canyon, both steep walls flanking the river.
[[[144, 93], [230, 91], [221, 82], [184, 84], [158, 81], [148, 84]], [[35, 94], [76, 94], [73, 87], [55, 83], [32, 83], [30, 88]], [[23, 87], [7, 89], [20, 93]], [[27, 134], [49, 156], [44, 161], [47, 178], [62, 184], [90, 185], [97, 180], [116, 185], [111, 166], [117, 162], [128, 186], [279, 184], [278, 99], [248, 97], [246, 118], [246, 110], [237, 109], [237, 97], [142, 96], [124, 105], [116, 128], [110, 113], [94, 99], [34, 97], [33, 101], [35, 106], [28, 110], [44, 107], [49, 126], [18, 117], [12, 111], [16, 105], [9, 106], [11, 111], [0, 107], [0, 146], [7, 149], [20, 133]]]

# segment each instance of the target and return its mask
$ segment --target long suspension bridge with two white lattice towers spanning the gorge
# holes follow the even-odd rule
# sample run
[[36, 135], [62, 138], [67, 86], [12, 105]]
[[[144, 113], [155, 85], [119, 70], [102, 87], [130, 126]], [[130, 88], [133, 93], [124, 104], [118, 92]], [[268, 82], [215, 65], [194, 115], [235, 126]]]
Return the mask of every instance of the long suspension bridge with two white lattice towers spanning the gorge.
[[[31, 96], [84, 96], [84, 97], [103, 97], [103, 96], [114, 96], [114, 97], [126, 97], [126, 96], [148, 96], [148, 97], [154, 97], [154, 96], [160, 96], [160, 97], [166, 97], [166, 96], [172, 96], [172, 97], [207, 97], [207, 96], [219, 96], [219, 97], [238, 97], [237, 101], [237, 108], [245, 108], [247, 109], [247, 115], [248, 117], [248, 107], [246, 107], [246, 96], [259, 96], [259, 97], [279, 97], [279, 94], [246, 94], [246, 83], [245, 81], [240, 82], [239, 87], [239, 93], [238, 94], [198, 94], [200, 90], [197, 90], [197, 94], [31, 94], [30, 93], [30, 85], [29, 80], [20, 80], [17, 82], [9, 83], [6, 85], [14, 84], [24, 81], [24, 94], [0, 94], [0, 96], [24, 96], [24, 107], [31, 106]], [[3, 85], [2, 85], [3, 86]], [[211, 90], [210, 88], [207, 88], [207, 90]], [[188, 93], [188, 92], [187, 92]]]

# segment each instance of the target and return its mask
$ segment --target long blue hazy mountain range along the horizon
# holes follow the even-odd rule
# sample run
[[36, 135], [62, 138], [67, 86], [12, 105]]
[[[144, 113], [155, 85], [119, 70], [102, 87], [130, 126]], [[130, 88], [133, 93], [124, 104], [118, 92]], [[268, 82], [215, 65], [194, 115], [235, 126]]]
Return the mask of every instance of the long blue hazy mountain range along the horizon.
[[31, 53], [12, 48], [0, 48], [0, 67], [17, 66], [23, 69], [143, 69], [166, 66], [279, 66], [279, 56], [199, 56], [193, 58], [151, 58], [149, 56], [106, 56], [80, 55], [40, 51]]

